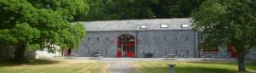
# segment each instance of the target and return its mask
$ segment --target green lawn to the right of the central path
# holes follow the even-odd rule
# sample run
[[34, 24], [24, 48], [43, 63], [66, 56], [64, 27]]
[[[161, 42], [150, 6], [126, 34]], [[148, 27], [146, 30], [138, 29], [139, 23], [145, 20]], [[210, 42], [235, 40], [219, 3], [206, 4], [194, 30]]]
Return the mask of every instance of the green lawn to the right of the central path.
[[[167, 73], [168, 64], [175, 64], [176, 73], [237, 73], [236, 63], [186, 62], [186, 61], [139, 61], [134, 62], [137, 73]], [[256, 73], [256, 63], [248, 63], [247, 73]]]

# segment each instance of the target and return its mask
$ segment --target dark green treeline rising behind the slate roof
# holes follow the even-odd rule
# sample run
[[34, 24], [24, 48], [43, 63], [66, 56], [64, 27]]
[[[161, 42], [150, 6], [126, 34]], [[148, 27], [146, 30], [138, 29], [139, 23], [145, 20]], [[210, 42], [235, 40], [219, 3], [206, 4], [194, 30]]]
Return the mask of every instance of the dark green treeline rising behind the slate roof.
[[76, 20], [186, 18], [205, 0], [88, 0], [89, 11]]

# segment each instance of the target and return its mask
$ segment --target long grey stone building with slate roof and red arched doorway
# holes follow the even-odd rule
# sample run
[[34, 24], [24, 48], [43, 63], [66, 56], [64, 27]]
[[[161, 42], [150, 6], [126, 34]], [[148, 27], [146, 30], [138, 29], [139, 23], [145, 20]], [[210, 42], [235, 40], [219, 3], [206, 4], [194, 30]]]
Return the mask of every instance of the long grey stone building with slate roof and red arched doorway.
[[198, 50], [196, 31], [189, 19], [108, 20], [82, 22], [87, 31], [74, 51], [79, 56], [100, 53], [104, 57], [153, 57], [175, 54], [179, 58], [202, 57], [214, 53], [218, 58], [235, 58], [232, 48]]

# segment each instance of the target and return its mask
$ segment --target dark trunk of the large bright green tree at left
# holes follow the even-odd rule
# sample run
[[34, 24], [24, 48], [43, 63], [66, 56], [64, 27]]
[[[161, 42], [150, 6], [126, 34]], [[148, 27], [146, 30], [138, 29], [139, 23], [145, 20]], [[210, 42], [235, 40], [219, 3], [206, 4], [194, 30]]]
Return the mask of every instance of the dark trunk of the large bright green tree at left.
[[19, 43], [15, 47], [15, 61], [23, 61], [24, 60], [24, 55], [26, 52], [26, 47], [24, 43]]

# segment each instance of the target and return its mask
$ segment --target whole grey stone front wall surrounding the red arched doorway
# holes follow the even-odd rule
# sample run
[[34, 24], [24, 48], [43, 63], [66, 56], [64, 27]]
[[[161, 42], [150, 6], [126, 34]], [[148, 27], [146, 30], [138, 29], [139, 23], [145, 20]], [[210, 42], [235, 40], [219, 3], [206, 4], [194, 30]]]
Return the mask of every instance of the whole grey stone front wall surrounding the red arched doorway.
[[[118, 36], [130, 34], [138, 38], [137, 57], [154, 53], [154, 57], [177, 54], [178, 57], [195, 57], [195, 33], [183, 31], [88, 31], [78, 50], [79, 56], [101, 53], [104, 57], [116, 57]], [[108, 38], [108, 41], [107, 41]], [[90, 39], [90, 40], [89, 40]]]

